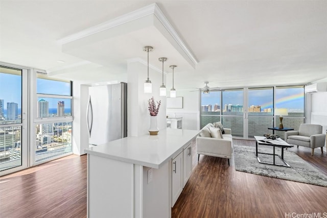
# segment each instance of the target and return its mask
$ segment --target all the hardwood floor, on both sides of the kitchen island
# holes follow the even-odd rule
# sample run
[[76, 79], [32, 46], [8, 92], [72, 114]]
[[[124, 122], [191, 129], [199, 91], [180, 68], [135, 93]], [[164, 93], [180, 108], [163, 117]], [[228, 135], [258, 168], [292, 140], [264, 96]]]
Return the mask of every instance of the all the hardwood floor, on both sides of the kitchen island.
[[[233, 139], [255, 146], [254, 141]], [[195, 149], [194, 149], [195, 150]], [[326, 151], [292, 148], [327, 175]], [[195, 154], [195, 152], [193, 152]], [[86, 217], [86, 155], [0, 177], [0, 217]], [[235, 171], [233, 160], [200, 156], [172, 217], [287, 217], [327, 212], [327, 187]], [[291, 217], [291, 216], [288, 216]]]

